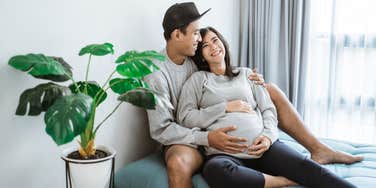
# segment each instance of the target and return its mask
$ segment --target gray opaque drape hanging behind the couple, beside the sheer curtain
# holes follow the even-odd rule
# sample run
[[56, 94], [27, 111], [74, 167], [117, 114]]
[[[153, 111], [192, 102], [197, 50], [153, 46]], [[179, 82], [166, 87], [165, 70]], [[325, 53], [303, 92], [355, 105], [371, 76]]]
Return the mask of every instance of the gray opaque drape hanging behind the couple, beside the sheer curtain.
[[308, 0], [241, 0], [238, 66], [257, 68], [302, 113]]

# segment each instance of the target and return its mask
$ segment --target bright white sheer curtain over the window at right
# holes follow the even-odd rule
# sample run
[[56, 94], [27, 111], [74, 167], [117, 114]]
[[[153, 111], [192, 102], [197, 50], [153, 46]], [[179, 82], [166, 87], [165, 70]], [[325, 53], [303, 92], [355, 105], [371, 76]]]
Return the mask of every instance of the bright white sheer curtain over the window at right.
[[305, 121], [318, 136], [376, 144], [376, 1], [311, 1]]

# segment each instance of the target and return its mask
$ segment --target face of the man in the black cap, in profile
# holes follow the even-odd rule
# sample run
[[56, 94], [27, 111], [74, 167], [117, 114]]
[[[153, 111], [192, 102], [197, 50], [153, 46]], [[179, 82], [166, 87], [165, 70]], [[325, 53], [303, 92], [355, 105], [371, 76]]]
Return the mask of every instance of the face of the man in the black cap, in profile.
[[198, 20], [191, 22], [188, 27], [186, 34], [182, 34], [182, 53], [186, 56], [194, 56], [198, 43], [201, 42], [201, 35], [199, 29], [199, 22]]

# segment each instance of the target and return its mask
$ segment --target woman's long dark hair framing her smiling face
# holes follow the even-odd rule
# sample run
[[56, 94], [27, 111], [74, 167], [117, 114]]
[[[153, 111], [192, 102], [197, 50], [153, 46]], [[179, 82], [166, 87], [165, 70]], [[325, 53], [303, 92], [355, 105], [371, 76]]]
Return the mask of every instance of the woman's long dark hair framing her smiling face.
[[[211, 31], [215, 33], [219, 40], [223, 43], [223, 46], [225, 47], [226, 53], [225, 53], [225, 64], [226, 64], [226, 71], [225, 75], [232, 78], [234, 76], [237, 76], [238, 73], [233, 72], [233, 67], [231, 66], [231, 59], [230, 59], [230, 50], [228, 48], [228, 43], [225, 40], [225, 38], [213, 27], [205, 27], [200, 29], [200, 34], [202, 39], [208, 34], [208, 32]], [[205, 61], [204, 56], [202, 55], [202, 42], [198, 44], [197, 50], [195, 55], [192, 57], [192, 60], [196, 64], [198, 70], [202, 71], [208, 71], [210, 72], [209, 64]]]

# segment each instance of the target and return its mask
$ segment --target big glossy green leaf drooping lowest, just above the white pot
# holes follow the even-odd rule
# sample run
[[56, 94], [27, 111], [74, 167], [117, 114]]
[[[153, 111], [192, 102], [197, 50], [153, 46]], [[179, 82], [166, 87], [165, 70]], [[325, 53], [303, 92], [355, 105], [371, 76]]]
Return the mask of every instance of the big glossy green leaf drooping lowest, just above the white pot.
[[59, 98], [44, 115], [46, 132], [57, 145], [66, 144], [85, 131], [93, 113], [93, 99], [84, 94]]

